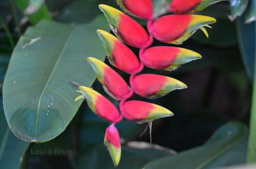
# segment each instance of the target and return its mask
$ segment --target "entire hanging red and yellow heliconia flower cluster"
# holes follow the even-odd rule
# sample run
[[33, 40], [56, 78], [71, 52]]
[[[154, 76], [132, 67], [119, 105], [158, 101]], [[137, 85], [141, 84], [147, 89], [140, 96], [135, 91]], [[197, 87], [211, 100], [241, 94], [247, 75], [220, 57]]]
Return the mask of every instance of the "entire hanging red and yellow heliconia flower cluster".
[[[169, 11], [176, 13], [160, 18], [154, 16], [152, 0], [116, 0], [120, 7], [128, 14], [148, 20], [148, 32], [135, 20], [123, 12], [107, 5], [99, 5], [100, 10], [108, 19], [109, 25], [116, 36], [97, 30], [106, 49], [108, 61], [116, 68], [131, 74], [130, 87], [124, 79], [107, 64], [98, 59], [88, 57], [96, 77], [103, 85], [105, 92], [113, 99], [120, 100], [118, 109], [100, 93], [85, 86], [79, 86], [83, 95], [76, 100], [85, 98], [92, 112], [112, 123], [105, 133], [104, 144], [115, 166], [121, 158], [121, 143], [116, 122], [126, 118], [139, 124], [172, 116], [173, 113], [156, 104], [132, 100], [126, 101], [136, 93], [148, 99], [156, 99], [187, 86], [172, 77], [156, 74], [140, 74], [144, 66], [156, 70], [176, 70], [180, 65], [192, 60], [200, 59], [201, 55], [184, 48], [157, 46], [148, 48], [155, 38], [161, 42], [181, 44], [197, 29], [208, 34], [204, 26], [216, 22], [214, 18], [192, 15], [205, 7], [220, 0], [172, 0]], [[117, 38], [116, 38], [117, 37]], [[140, 49], [139, 59], [125, 44]], [[146, 49], [147, 48], [147, 49]]]

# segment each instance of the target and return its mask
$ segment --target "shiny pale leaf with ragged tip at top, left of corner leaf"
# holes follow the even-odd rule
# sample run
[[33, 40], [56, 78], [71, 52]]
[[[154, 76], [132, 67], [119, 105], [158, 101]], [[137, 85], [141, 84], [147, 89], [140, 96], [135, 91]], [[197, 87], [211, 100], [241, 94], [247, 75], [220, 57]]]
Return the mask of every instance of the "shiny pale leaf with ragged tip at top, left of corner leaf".
[[228, 18], [231, 21], [234, 21], [236, 17], [242, 16], [245, 9], [247, 8], [248, 3], [249, 3], [249, 0], [243, 0], [243, 1], [230, 0], [230, 15], [228, 16]]

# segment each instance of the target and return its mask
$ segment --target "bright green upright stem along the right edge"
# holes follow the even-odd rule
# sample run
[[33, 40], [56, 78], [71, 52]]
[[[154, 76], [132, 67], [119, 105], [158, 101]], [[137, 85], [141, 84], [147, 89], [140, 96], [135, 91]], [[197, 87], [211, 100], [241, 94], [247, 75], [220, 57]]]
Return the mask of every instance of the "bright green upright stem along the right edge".
[[[255, 29], [255, 33], [256, 33], [256, 29]], [[253, 82], [253, 91], [252, 91], [250, 133], [249, 133], [248, 151], [247, 151], [247, 163], [255, 163], [255, 162], [256, 162], [256, 53], [255, 53], [255, 64], [254, 64], [254, 82]]]

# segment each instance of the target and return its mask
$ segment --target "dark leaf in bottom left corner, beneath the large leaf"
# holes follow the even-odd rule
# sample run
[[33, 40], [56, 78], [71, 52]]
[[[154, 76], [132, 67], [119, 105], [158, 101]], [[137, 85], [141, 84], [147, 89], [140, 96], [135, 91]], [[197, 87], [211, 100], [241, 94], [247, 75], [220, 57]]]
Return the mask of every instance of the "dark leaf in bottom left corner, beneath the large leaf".
[[29, 143], [15, 137], [6, 122], [0, 99], [0, 168], [18, 169]]

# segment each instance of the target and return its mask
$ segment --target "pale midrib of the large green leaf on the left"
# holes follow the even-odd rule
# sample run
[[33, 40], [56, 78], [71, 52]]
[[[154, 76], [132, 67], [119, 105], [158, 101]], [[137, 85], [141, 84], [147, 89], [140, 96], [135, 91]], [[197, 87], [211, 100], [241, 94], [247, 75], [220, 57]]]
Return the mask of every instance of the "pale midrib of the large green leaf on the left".
[[[34, 140], [36, 139], [36, 130], [37, 130], [37, 123], [38, 123], [38, 116], [39, 116], [39, 110], [40, 110], [41, 99], [42, 99], [42, 97], [43, 97], [43, 95], [44, 95], [44, 92], [45, 92], [47, 86], [49, 85], [49, 83], [50, 83], [50, 81], [51, 81], [51, 79], [52, 79], [52, 76], [53, 76], [53, 74], [54, 74], [54, 72], [55, 72], [55, 70], [56, 70], [56, 68], [57, 68], [57, 66], [58, 66], [58, 64], [59, 64], [59, 62], [60, 62], [60, 59], [61, 59], [63, 53], [65, 52], [65, 50], [66, 50], [66, 48], [67, 48], [67, 46], [68, 46], [69, 41], [71, 40], [71, 38], [73, 37], [74, 33], [76, 32], [76, 29], [77, 29], [77, 27], [74, 26], [73, 30], [71, 31], [70, 35], [68, 36], [68, 39], [67, 39], [67, 41], [65, 42], [65, 44], [64, 44], [64, 46], [63, 46], [63, 48], [62, 48], [62, 50], [61, 50], [61, 52], [60, 52], [60, 55], [58, 56], [58, 60], [56, 61], [55, 65], [54, 65], [54, 67], [53, 67], [53, 69], [52, 69], [52, 72], [51, 72], [51, 74], [50, 74], [50, 76], [49, 76], [49, 78], [48, 78], [48, 80], [47, 80], [47, 82], [46, 82], [46, 84], [45, 84], [45, 86], [44, 86], [44, 89], [43, 89], [43, 91], [42, 91], [42, 93], [41, 93], [41, 95], [40, 95], [40, 97], [39, 97], [39, 99], [38, 99], [38, 105], [37, 105], [37, 111], [36, 111], [36, 122], [35, 122], [35, 135], [34, 135]], [[35, 141], [36, 141], [36, 140], [35, 140]]]

